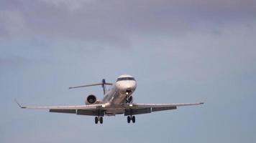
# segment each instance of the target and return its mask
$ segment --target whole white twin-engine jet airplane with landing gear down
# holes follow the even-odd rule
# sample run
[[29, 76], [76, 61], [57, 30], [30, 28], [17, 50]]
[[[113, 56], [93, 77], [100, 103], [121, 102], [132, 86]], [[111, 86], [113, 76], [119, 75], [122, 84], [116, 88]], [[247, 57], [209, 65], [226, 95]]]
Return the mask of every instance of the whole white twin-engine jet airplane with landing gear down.
[[[124, 114], [127, 116], [127, 122], [135, 122], [137, 114], [148, 114], [151, 112], [159, 112], [177, 107], [191, 106], [204, 104], [201, 103], [175, 103], [175, 104], [138, 104], [133, 102], [133, 93], [137, 88], [137, 82], [134, 77], [123, 74], [116, 79], [114, 84], [106, 82], [102, 79], [101, 83], [88, 84], [78, 87], [69, 87], [69, 89], [99, 86], [103, 88], [104, 98], [97, 99], [95, 95], [90, 94], [86, 98], [85, 105], [78, 106], [60, 106], [60, 107], [30, 107], [22, 106], [17, 102], [18, 106], [22, 109], [48, 109], [49, 112], [69, 113], [78, 115], [88, 115], [95, 117], [95, 124], [102, 124], [104, 116], [115, 116], [116, 114]], [[106, 85], [109, 85], [106, 90]]]

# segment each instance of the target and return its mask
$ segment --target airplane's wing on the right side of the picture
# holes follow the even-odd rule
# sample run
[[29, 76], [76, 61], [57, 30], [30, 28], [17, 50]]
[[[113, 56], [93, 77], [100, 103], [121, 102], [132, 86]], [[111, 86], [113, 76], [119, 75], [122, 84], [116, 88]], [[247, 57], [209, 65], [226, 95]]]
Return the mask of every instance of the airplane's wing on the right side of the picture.
[[124, 112], [125, 116], [130, 114], [147, 114], [151, 112], [159, 112], [170, 109], [177, 109], [177, 107], [200, 105], [204, 103], [180, 103], [180, 104], [127, 104]]

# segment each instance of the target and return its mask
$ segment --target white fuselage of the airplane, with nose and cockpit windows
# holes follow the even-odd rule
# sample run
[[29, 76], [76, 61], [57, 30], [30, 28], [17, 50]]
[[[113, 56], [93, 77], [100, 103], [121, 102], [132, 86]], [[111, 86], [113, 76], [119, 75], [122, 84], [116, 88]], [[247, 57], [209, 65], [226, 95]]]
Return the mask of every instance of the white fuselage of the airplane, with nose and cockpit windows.
[[[126, 100], [132, 96], [132, 93], [137, 87], [137, 83], [133, 77], [129, 75], [122, 75], [119, 77], [122, 80], [117, 79], [104, 95], [102, 102], [106, 104], [106, 115], [122, 114], [124, 109], [116, 109], [120, 105], [124, 104]], [[127, 79], [125, 79], [127, 78]], [[132, 78], [133, 80], [131, 80]]]

